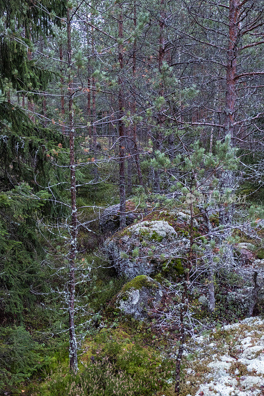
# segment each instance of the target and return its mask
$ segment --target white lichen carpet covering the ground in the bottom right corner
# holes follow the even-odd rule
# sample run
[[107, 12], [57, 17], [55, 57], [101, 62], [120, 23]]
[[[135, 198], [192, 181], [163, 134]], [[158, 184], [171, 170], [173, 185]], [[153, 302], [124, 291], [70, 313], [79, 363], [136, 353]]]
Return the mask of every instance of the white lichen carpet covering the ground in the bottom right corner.
[[247, 318], [196, 337], [197, 357], [186, 365], [190, 396], [263, 396], [264, 320]]

